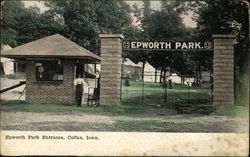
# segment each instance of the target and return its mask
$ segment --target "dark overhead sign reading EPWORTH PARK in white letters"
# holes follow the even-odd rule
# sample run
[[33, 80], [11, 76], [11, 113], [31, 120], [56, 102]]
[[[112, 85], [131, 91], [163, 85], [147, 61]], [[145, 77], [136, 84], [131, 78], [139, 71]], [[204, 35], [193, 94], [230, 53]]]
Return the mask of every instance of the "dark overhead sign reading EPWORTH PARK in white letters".
[[122, 43], [127, 50], [212, 50], [209, 41], [128, 41]]

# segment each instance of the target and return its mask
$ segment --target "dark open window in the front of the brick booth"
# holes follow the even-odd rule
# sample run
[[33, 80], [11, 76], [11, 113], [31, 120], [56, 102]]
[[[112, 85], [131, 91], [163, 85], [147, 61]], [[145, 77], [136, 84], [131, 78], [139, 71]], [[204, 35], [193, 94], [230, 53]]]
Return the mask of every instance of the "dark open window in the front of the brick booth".
[[63, 81], [63, 65], [60, 60], [36, 62], [37, 81]]

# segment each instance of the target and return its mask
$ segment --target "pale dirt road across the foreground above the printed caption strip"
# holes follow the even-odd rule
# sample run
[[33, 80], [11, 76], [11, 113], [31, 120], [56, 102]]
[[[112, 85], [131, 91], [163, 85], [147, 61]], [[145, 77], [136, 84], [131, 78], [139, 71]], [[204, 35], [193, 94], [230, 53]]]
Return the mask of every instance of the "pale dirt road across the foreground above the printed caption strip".
[[[133, 122], [161, 122], [133, 125]], [[122, 125], [130, 122], [132, 125]], [[225, 116], [130, 117], [83, 113], [2, 112], [2, 130], [34, 131], [153, 131], [153, 132], [243, 132], [247, 121]]]

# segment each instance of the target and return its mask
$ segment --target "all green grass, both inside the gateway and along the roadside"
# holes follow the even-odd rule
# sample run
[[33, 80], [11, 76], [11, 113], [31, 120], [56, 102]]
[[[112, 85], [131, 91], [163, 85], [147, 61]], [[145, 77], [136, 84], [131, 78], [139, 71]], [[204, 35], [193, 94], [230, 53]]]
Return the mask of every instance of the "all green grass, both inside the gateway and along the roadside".
[[[122, 87], [121, 105], [101, 105], [100, 107], [82, 107], [67, 104], [30, 104], [25, 101], [0, 101], [2, 111], [14, 112], [82, 112], [102, 115], [175, 115], [178, 107], [187, 107], [186, 113], [198, 113], [197, 106], [211, 105], [212, 96], [209, 89], [194, 88], [174, 85], [173, 89], [163, 89], [158, 83], [144, 84], [142, 91], [141, 83], [130, 81], [130, 86]], [[142, 103], [143, 94], [143, 103]], [[189, 111], [190, 110], [190, 111]], [[206, 109], [205, 109], [206, 110]], [[220, 106], [216, 108], [218, 115], [247, 115], [248, 108], [245, 106]]]

